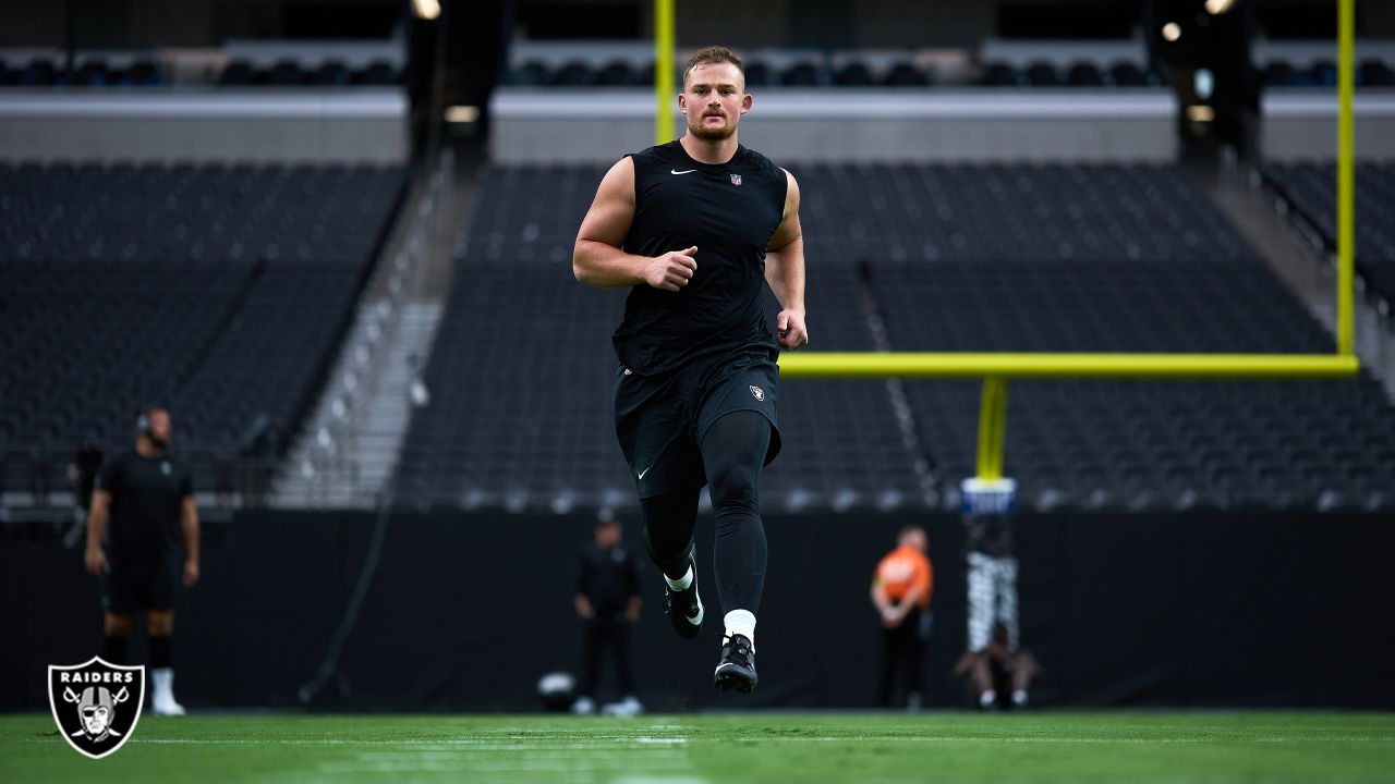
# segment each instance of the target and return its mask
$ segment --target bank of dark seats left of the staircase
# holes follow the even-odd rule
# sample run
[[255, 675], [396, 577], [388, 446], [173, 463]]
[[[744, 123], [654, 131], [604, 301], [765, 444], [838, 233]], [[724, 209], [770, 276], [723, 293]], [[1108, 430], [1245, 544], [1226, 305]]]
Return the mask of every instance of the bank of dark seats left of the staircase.
[[0, 462], [24, 451], [35, 463], [0, 490], [61, 474], [84, 439], [126, 449], [149, 403], [174, 413], [201, 488], [259, 416], [289, 445], [403, 179], [374, 166], [0, 166]]

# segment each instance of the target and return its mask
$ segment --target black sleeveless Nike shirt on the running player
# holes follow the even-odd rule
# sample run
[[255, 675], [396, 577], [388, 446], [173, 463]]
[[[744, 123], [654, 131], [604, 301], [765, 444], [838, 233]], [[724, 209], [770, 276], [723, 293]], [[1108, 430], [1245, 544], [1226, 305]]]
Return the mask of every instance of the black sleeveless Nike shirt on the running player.
[[657, 257], [698, 246], [678, 292], [640, 283], [612, 338], [621, 364], [653, 375], [742, 347], [778, 352], [764, 315], [766, 247], [788, 181], [766, 156], [737, 146], [727, 163], [693, 160], [677, 141], [632, 153], [635, 220], [624, 250]]

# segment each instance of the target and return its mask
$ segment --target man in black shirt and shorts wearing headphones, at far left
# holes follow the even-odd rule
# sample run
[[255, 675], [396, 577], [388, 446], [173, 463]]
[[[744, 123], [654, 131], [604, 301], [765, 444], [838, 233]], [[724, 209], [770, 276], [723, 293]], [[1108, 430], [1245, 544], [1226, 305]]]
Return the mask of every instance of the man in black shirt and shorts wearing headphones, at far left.
[[[135, 451], [116, 458], [98, 476], [85, 561], [88, 572], [102, 579], [102, 658], [126, 663], [131, 617], [144, 610], [151, 633], [151, 709], [183, 716], [184, 707], [174, 700], [170, 635], [177, 586], [198, 580], [198, 509], [188, 472], [167, 455], [169, 412], [145, 409], [135, 427]], [[176, 532], [184, 543], [183, 569]]]

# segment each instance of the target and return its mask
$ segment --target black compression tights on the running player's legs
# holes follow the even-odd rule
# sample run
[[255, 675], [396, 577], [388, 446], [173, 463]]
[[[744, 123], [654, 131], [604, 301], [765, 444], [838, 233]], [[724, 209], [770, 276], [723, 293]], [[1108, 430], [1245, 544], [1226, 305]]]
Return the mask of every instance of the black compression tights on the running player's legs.
[[[769, 446], [770, 421], [757, 412], [723, 416], [707, 428], [700, 445], [717, 518], [713, 552], [717, 594], [727, 612], [755, 612], [760, 607], [767, 547], [756, 484]], [[670, 579], [688, 573], [700, 490], [678, 490], [640, 501], [649, 554]]]

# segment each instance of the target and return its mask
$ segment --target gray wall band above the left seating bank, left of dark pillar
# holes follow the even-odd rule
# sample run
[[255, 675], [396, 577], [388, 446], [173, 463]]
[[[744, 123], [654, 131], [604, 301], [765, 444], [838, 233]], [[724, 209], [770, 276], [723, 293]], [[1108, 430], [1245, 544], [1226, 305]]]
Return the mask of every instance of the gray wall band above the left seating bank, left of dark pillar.
[[398, 89], [4, 91], [6, 160], [402, 162]]

